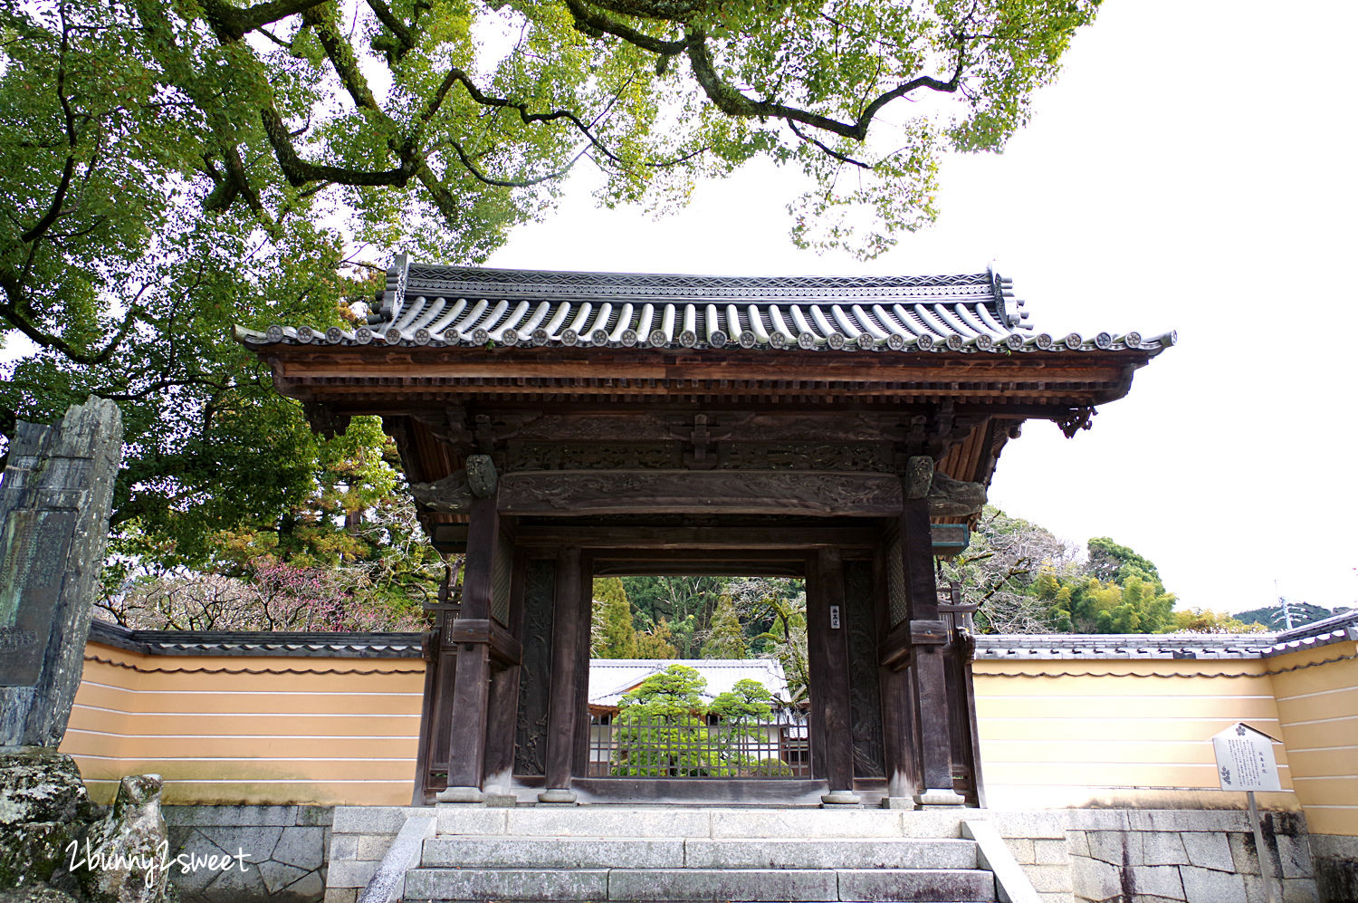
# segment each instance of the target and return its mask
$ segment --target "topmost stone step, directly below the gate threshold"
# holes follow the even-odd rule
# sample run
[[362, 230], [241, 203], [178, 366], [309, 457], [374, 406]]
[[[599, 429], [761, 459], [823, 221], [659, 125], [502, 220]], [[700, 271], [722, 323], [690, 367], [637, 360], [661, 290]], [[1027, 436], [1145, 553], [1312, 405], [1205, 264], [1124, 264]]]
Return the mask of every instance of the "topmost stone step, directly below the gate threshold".
[[900, 809], [439, 807], [437, 832], [595, 838], [956, 838], [961, 816], [961, 811]]

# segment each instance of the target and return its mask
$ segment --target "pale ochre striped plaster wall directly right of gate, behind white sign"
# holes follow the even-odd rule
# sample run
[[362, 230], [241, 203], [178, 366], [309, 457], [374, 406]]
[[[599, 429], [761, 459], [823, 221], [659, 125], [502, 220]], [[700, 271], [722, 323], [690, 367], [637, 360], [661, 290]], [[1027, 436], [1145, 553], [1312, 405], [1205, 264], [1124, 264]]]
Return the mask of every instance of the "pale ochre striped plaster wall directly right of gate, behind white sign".
[[[1236, 808], [1218, 789], [1210, 739], [1237, 721], [1279, 737], [1268, 660], [975, 663], [976, 714], [991, 805]], [[1283, 793], [1297, 809], [1287, 751]]]

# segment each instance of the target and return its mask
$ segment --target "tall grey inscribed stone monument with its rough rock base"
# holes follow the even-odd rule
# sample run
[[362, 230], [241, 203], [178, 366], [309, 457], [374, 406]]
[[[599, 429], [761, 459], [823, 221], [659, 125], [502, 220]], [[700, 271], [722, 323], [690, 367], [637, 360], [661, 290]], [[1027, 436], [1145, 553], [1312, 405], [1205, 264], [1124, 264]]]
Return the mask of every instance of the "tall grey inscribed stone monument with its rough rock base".
[[122, 456], [110, 401], [20, 422], [0, 478], [0, 888], [52, 879], [94, 808], [57, 752], [84, 669]]

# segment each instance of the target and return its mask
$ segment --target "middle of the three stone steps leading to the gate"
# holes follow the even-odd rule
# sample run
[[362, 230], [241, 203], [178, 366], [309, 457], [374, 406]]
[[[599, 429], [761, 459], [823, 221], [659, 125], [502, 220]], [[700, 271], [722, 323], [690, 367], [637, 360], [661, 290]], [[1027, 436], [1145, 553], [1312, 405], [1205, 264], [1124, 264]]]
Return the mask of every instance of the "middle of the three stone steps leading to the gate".
[[436, 836], [426, 868], [975, 869], [976, 845], [918, 838]]

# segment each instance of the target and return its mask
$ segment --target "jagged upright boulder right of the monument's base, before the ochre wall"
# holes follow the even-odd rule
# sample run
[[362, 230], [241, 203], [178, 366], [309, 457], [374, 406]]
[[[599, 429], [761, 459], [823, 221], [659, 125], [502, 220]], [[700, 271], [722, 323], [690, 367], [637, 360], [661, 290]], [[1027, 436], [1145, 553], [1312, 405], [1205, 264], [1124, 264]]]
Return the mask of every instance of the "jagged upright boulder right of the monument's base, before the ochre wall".
[[168, 849], [160, 775], [136, 774], [118, 784], [113, 809], [91, 826], [72, 872], [94, 903], [160, 903]]

